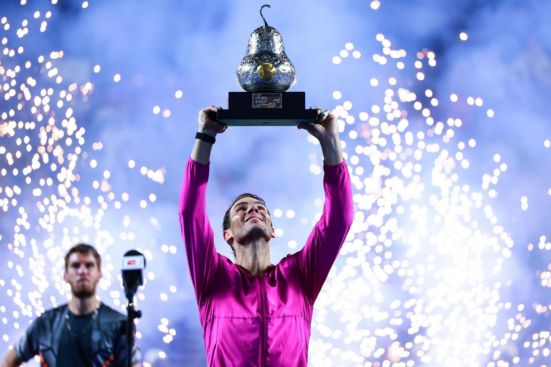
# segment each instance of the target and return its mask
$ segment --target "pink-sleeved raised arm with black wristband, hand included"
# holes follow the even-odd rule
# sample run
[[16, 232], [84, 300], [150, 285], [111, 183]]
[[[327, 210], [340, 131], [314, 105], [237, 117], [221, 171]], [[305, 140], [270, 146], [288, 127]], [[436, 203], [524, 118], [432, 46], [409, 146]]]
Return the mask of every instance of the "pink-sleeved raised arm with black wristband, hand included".
[[[219, 108], [210, 106], [199, 112], [199, 133], [214, 138], [217, 134], [225, 131], [226, 125], [214, 122], [214, 114]], [[203, 292], [214, 276], [218, 265], [214, 235], [205, 211], [208, 164], [212, 146], [213, 143], [196, 139], [183, 174], [179, 202], [182, 238], [186, 248], [191, 282], [199, 307], [202, 306]]]

